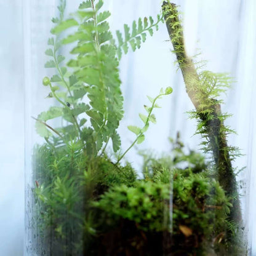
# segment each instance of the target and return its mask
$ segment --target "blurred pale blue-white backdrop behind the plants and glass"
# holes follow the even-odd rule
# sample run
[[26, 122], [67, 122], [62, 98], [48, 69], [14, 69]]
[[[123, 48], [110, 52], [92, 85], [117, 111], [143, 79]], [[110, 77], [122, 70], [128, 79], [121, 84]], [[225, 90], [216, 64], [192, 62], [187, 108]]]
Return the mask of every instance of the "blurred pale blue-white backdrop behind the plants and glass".
[[[78, 0], [66, 0], [67, 12], [76, 9]], [[228, 124], [238, 132], [230, 143], [246, 154], [237, 162], [247, 166], [244, 177], [250, 192], [243, 201], [244, 215], [255, 251], [255, 60], [256, 60], [256, 1], [254, 0], [176, 0], [184, 18], [186, 47], [190, 55], [201, 49], [200, 58], [208, 60], [207, 68], [228, 72], [236, 83], [228, 92], [224, 111], [233, 113]], [[36, 94], [44, 92], [41, 79], [44, 71], [44, 49], [50, 36], [50, 18], [55, 15], [58, 0], [0, 0], [0, 255], [23, 255], [24, 234], [24, 78], [33, 81]], [[138, 17], [158, 14], [160, 0], [105, 0], [105, 8], [113, 14], [112, 29], [132, 24]], [[161, 25], [153, 38], [148, 37], [142, 49], [129, 52], [121, 61], [122, 91], [126, 111], [120, 134], [123, 148], [132, 140], [127, 125], [139, 125], [138, 113], [147, 102], [146, 95], [157, 95], [161, 87], [172, 86], [174, 93], [163, 98], [156, 111], [157, 124], [146, 133], [139, 149], [168, 151], [168, 137], [180, 131], [185, 145], [196, 148], [199, 137], [193, 137], [195, 123], [186, 111], [193, 108], [185, 92], [183, 79], [173, 64], [166, 27]], [[33, 65], [32, 65], [33, 64]], [[25, 65], [25, 66], [24, 66]], [[31, 66], [32, 65], [32, 66]], [[33, 73], [31, 72], [33, 71]], [[44, 93], [45, 94], [45, 93]], [[42, 94], [42, 95], [44, 95]], [[28, 95], [26, 95], [26, 99]], [[127, 155], [134, 166], [141, 159], [133, 150]]]

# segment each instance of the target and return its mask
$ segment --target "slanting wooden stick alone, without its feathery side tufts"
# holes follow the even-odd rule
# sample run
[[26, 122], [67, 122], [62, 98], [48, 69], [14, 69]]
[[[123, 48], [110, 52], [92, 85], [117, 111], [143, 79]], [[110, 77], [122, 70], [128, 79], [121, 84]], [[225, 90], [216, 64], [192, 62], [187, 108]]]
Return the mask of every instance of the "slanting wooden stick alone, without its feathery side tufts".
[[[231, 201], [233, 207], [230, 209], [229, 218], [235, 223], [240, 223], [241, 207], [238, 198], [238, 188], [234, 170], [231, 166], [230, 152], [228, 150], [228, 143], [226, 142], [225, 129], [223, 129], [224, 124], [220, 118], [222, 116], [220, 104], [214, 98], [207, 97], [206, 93], [199, 86], [200, 80], [196, 67], [193, 60], [186, 54], [183, 29], [178, 17], [177, 6], [164, 1], [162, 10], [178, 65], [182, 71], [186, 92], [196, 108], [198, 117], [201, 121], [206, 122], [206, 133], [209, 138], [210, 150], [214, 156], [218, 182], [220, 182], [220, 185], [226, 191], [226, 196], [233, 198]], [[207, 111], [201, 107], [204, 105], [202, 104], [204, 102], [207, 102]]]

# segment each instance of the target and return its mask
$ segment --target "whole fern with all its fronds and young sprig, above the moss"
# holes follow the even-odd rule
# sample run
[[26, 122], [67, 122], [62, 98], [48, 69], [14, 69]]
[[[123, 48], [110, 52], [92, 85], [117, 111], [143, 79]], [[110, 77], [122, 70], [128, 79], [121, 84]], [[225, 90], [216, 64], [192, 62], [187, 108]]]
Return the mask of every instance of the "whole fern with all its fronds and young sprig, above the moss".
[[[119, 60], [129, 47], [133, 51], [139, 49], [146, 34], [152, 36], [153, 30], [158, 30], [159, 23], [164, 22], [163, 15], [158, 15], [156, 22], [152, 17], [144, 18], [143, 22], [139, 18], [132, 23], [132, 28], [125, 24], [124, 34], [116, 31], [115, 40], [107, 22], [110, 12], [101, 11], [103, 0], [82, 2], [66, 19], [65, 6], [65, 0], [60, 1], [60, 15], [52, 19], [55, 23], [51, 30], [53, 37], [49, 38], [46, 50], [50, 60], [45, 68], [54, 68], [57, 74], [45, 77], [42, 82], [50, 90], [47, 98], [54, 97], [59, 105], [51, 106], [34, 118], [36, 130], [51, 145], [76, 142], [90, 157], [105, 153], [110, 140], [113, 151], [117, 152], [121, 147], [117, 129], [124, 114]], [[72, 46], [70, 54], [73, 57], [65, 64], [66, 58], [60, 52], [68, 44]], [[152, 111], [158, 107], [156, 99], [171, 92], [168, 87], [153, 100], [150, 98], [153, 104], [146, 108], [148, 116], [140, 114], [145, 126], [142, 129], [129, 127], [138, 135], [132, 145], [141, 143], [149, 122], [155, 122]], [[54, 128], [47, 123], [56, 118], [62, 118], [66, 124]], [[118, 162], [124, 154], [119, 153]]]

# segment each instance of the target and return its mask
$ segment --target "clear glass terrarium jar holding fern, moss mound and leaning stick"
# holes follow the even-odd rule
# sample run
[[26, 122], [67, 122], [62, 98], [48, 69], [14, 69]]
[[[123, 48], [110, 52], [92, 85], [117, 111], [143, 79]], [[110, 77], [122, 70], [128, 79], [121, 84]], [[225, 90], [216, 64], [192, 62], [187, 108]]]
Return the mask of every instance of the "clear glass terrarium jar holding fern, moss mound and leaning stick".
[[[110, 10], [124, 10], [114, 2], [31, 1], [26, 8], [25, 255], [250, 255], [241, 196], [248, 169], [236, 167], [245, 156], [230, 142], [234, 130], [222, 110], [233, 79], [188, 55], [182, 7], [152, 2], [158, 14], [142, 13], [116, 30]], [[126, 55], [140, 54], [158, 29], [167, 51], [150, 63], [145, 81], [173, 76], [174, 85], [132, 90], [142, 74], [130, 71]], [[138, 57], [146, 55], [154, 56], [150, 44]], [[191, 118], [193, 148], [182, 139], [178, 97], [190, 102], [182, 115]], [[171, 124], [158, 118], [161, 111]], [[164, 138], [169, 150], [140, 148], [158, 143], [166, 127], [177, 129]]]

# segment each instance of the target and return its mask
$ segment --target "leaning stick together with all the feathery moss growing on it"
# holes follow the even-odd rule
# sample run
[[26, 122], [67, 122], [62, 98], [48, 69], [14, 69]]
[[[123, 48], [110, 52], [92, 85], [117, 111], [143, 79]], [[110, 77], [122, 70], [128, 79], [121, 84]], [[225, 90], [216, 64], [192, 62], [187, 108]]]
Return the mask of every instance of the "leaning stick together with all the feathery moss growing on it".
[[[238, 244], [243, 233], [242, 214], [238, 182], [232, 161], [241, 154], [237, 148], [228, 145], [228, 135], [234, 133], [234, 130], [225, 125], [226, 118], [230, 114], [223, 114], [221, 110], [222, 94], [225, 93], [226, 87], [230, 86], [231, 79], [226, 74], [202, 71], [201, 63], [194, 63], [188, 57], [177, 6], [169, 1], [164, 1], [162, 9], [174, 47], [173, 52], [177, 57], [178, 66], [182, 70], [186, 92], [188, 92], [195, 107], [195, 110], [191, 111], [191, 117], [198, 121], [197, 133], [204, 138], [202, 149], [208, 156], [212, 157], [214, 176], [233, 205], [227, 219], [236, 224], [236, 235], [234, 236], [234, 231], [230, 228], [227, 231], [227, 240], [230, 244]], [[228, 247], [226, 249], [230, 250]], [[233, 255], [234, 252], [230, 251], [227, 254]]]

